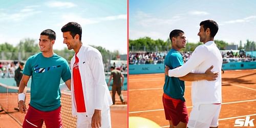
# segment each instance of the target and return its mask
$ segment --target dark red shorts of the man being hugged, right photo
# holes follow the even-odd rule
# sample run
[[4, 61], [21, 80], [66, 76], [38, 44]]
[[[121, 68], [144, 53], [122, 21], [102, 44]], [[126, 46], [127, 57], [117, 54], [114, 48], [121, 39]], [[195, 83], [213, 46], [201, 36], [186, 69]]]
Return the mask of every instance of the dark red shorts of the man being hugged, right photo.
[[172, 120], [174, 126], [177, 126], [180, 121], [188, 122], [187, 108], [184, 101], [163, 94], [163, 107], [165, 119]]

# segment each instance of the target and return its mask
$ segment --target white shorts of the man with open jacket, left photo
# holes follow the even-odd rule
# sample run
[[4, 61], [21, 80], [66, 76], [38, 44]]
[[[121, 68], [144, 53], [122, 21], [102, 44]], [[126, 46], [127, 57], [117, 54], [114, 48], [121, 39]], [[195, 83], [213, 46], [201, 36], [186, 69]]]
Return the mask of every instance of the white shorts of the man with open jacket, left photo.
[[[92, 117], [87, 117], [86, 113], [77, 113], [77, 128], [91, 128]], [[110, 109], [101, 112], [101, 127], [111, 127]]]

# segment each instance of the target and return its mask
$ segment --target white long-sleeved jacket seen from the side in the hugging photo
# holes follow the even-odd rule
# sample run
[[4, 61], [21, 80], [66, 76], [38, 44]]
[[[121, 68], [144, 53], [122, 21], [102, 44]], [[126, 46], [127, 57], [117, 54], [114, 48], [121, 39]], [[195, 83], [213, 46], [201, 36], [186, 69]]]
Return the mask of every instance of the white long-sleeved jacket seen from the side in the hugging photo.
[[205, 73], [214, 66], [212, 72], [219, 72], [215, 81], [199, 80], [192, 82], [191, 99], [193, 105], [197, 103], [221, 103], [221, 67], [222, 55], [214, 41], [208, 41], [198, 46], [188, 61], [181, 67], [169, 70], [170, 77], [182, 77], [189, 72]]

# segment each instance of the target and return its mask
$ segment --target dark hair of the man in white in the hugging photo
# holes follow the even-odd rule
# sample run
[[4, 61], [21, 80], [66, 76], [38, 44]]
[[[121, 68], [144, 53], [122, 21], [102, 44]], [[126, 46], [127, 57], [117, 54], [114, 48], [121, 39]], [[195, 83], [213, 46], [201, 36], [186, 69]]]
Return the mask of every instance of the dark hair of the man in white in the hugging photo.
[[214, 20], [211, 20], [211, 19], [202, 21], [200, 23], [200, 26], [201, 25], [203, 25], [204, 31], [206, 31], [207, 28], [210, 29], [210, 36], [211, 37], [214, 37], [217, 34], [218, 30], [219, 30], [218, 24]]

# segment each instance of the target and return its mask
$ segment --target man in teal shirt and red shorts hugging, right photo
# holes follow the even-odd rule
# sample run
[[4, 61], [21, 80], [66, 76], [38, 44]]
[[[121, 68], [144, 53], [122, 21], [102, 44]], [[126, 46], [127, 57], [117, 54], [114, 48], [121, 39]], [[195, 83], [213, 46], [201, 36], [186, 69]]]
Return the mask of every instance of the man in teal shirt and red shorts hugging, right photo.
[[[170, 69], [175, 69], [183, 65], [183, 57], [180, 53], [182, 48], [185, 48], [186, 37], [182, 30], [173, 30], [169, 34], [172, 41], [172, 49], [168, 52], [164, 59], [165, 66]], [[163, 106], [166, 120], [169, 121], [170, 127], [186, 127], [188, 122], [187, 109], [185, 104], [184, 81], [196, 80], [215, 80], [217, 73], [212, 73], [210, 67], [204, 74], [189, 73], [183, 77], [165, 76]]]

